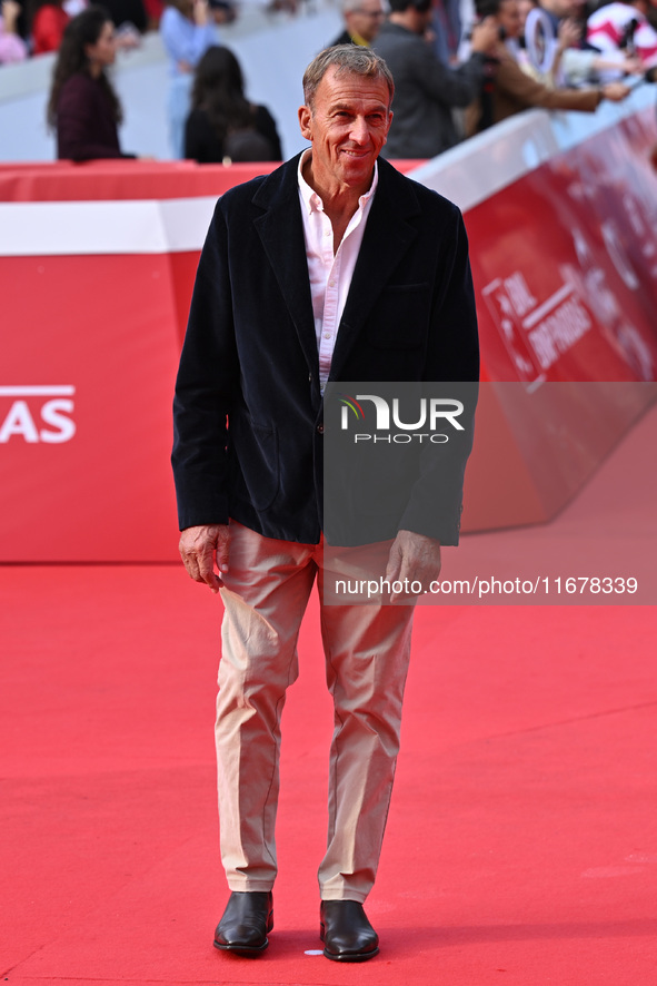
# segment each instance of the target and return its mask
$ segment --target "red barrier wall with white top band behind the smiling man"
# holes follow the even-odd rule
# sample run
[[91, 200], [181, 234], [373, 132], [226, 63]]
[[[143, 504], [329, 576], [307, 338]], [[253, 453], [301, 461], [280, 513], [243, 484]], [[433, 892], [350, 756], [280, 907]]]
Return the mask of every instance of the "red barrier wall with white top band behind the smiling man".
[[[653, 98], [528, 114], [410, 172], [464, 208], [484, 378], [517, 383], [479, 415], [464, 530], [553, 516], [655, 396], [606, 384], [657, 379]], [[0, 561], [175, 560], [196, 264], [217, 196], [261, 167], [0, 168]], [[570, 381], [598, 394], [584, 432], [564, 424]]]

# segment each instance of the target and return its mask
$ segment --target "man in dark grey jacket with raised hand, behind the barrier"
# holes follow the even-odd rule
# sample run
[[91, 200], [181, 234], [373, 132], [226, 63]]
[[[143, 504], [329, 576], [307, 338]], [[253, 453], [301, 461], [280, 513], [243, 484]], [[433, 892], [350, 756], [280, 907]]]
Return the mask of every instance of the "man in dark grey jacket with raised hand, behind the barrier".
[[390, 0], [390, 16], [375, 41], [395, 79], [395, 117], [388, 158], [431, 158], [460, 140], [452, 108], [466, 107], [484, 82], [497, 28], [482, 21], [472, 31], [471, 53], [451, 69], [422, 37], [431, 22], [431, 0]]

